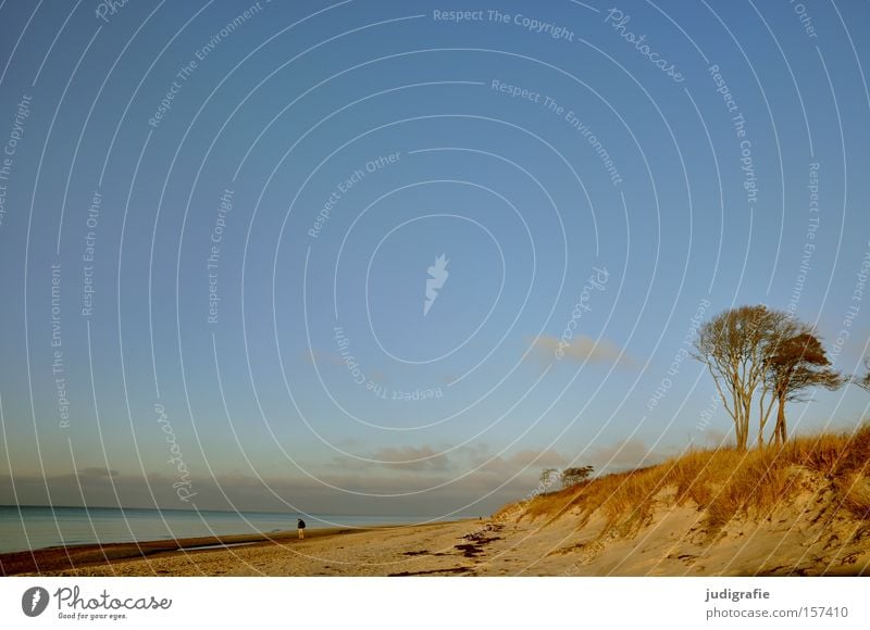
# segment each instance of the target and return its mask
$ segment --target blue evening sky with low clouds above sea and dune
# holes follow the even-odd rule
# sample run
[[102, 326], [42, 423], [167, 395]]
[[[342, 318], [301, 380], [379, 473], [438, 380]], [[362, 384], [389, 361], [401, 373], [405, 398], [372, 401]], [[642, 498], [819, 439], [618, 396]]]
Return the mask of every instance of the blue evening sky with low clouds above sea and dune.
[[492, 513], [726, 442], [739, 304], [861, 373], [869, 13], [0, 4], [0, 503]]

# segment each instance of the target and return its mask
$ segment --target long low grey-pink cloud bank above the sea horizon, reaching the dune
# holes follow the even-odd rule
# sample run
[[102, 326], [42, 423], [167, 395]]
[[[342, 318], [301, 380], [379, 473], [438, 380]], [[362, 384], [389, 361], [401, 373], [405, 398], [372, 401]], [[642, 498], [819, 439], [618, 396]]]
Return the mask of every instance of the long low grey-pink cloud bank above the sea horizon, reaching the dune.
[[[650, 465], [669, 453], [641, 441], [587, 450], [576, 461], [570, 450], [525, 449], [496, 455], [486, 444], [411, 445], [373, 450], [380, 462], [335, 459], [286, 474], [258, 476], [254, 471], [191, 475], [199, 509], [314, 512], [325, 514], [448, 514], [453, 509], [489, 514], [533, 492], [543, 468], [592, 464], [598, 471]], [[420, 459], [410, 462], [409, 459]], [[150, 472], [132, 475], [94, 467], [44, 477], [0, 475], [0, 504], [190, 508], [173, 488], [177, 478]], [[49, 495], [50, 492], [50, 495]], [[290, 521], [288, 521], [290, 522]], [[290, 522], [291, 525], [293, 522]]]

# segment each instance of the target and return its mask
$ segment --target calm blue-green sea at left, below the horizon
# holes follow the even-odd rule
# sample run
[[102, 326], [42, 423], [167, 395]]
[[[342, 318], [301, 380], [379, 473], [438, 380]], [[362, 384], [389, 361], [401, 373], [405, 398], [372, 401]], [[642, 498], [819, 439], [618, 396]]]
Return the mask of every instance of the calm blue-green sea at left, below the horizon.
[[[0, 553], [57, 545], [296, 529], [297, 514], [0, 505]], [[425, 517], [302, 515], [309, 528], [424, 522]]]

